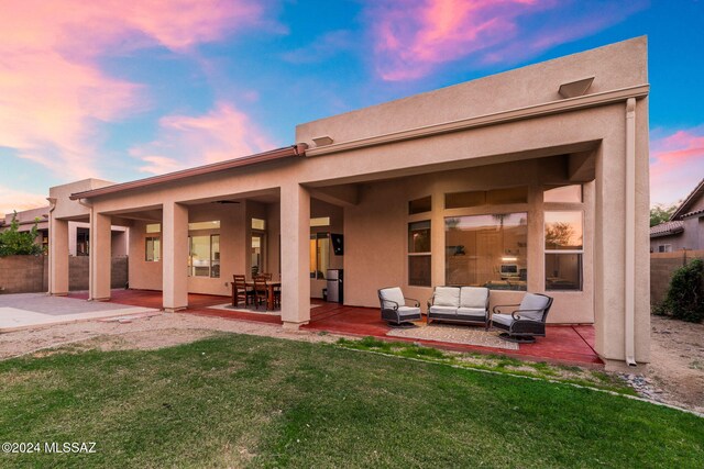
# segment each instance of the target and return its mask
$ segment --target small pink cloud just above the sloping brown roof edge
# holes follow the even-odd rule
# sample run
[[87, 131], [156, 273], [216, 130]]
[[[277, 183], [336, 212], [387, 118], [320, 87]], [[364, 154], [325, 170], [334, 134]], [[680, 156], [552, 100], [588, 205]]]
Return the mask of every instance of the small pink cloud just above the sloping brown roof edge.
[[130, 154], [146, 165], [140, 170], [164, 174], [272, 149], [277, 145], [242, 111], [219, 102], [204, 115], [169, 115], [160, 121], [156, 141]]

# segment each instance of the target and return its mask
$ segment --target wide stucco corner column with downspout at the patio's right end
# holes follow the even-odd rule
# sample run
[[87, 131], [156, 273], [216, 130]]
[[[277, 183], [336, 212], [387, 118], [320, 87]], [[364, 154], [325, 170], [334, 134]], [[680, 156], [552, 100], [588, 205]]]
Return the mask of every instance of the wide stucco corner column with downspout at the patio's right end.
[[596, 163], [595, 349], [609, 369], [650, 360], [647, 102], [625, 104]]

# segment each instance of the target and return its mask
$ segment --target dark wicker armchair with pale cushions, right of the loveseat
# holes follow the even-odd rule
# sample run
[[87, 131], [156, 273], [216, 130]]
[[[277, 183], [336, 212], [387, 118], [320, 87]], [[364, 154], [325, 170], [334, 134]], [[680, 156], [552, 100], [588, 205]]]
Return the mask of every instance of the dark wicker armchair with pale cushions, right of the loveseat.
[[[520, 304], [494, 306], [492, 327], [505, 331], [499, 337], [506, 340], [534, 343], [535, 336], [546, 336], [546, 320], [550, 306], [552, 306], [552, 298], [540, 293], [526, 293]], [[510, 310], [510, 308], [517, 309]]]

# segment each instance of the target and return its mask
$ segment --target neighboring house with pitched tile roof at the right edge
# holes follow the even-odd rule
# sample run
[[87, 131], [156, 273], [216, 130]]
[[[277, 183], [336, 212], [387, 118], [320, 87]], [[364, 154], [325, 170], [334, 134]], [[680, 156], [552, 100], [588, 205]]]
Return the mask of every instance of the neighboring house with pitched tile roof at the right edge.
[[650, 228], [650, 252], [704, 249], [704, 179], [682, 201], [670, 220]]

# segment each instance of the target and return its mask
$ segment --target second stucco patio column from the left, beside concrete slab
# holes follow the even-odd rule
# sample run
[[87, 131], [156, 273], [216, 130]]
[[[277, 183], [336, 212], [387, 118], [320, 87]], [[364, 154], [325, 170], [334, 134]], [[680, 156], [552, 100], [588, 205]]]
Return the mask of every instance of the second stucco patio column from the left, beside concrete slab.
[[111, 217], [95, 212], [90, 220], [90, 295], [94, 301], [110, 299], [112, 243]]

